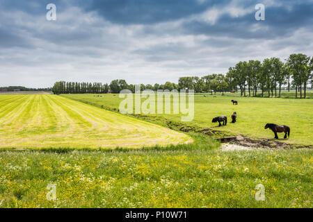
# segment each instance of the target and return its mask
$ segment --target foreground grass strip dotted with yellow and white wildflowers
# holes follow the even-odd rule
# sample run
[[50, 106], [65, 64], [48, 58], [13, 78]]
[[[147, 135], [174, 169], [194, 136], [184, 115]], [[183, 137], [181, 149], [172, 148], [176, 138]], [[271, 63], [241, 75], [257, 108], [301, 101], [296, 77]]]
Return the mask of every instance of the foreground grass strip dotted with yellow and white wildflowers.
[[0, 207], [313, 207], [312, 152], [0, 152]]

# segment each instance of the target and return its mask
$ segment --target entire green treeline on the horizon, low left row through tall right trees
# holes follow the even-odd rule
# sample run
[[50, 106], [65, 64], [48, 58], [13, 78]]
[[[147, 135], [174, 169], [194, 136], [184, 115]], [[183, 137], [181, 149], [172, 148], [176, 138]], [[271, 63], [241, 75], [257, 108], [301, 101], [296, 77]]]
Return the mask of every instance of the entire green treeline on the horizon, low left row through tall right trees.
[[[306, 97], [306, 89], [312, 87], [313, 57], [304, 54], [292, 54], [286, 62], [279, 58], [267, 58], [263, 62], [249, 60], [238, 62], [230, 67], [226, 75], [209, 74], [206, 76], [181, 77], [178, 84], [166, 82], [164, 85], [141, 84], [141, 91], [145, 89], [193, 89], [195, 92], [241, 92], [241, 96], [280, 96], [282, 86], [287, 85], [288, 91], [296, 89], [300, 98]], [[52, 87], [54, 94], [81, 94], [81, 93], [119, 93], [122, 89], [135, 92], [135, 85], [128, 84], [126, 80], [113, 80], [109, 85], [102, 83], [67, 83], [57, 82]], [[261, 91], [261, 94], [257, 94]]]

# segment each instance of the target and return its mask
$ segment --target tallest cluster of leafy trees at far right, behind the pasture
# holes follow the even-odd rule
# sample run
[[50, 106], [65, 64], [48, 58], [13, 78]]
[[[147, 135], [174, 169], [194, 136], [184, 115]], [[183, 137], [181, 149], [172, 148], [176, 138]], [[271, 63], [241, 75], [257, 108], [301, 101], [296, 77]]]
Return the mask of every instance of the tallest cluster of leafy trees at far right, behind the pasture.
[[296, 98], [300, 92], [300, 98], [306, 97], [307, 85], [312, 85], [313, 57], [304, 54], [292, 54], [286, 62], [279, 58], [266, 58], [263, 62], [250, 60], [249, 62], [238, 62], [230, 67], [225, 80], [230, 89], [240, 89], [241, 96], [257, 96], [257, 89], [260, 89], [262, 96], [264, 92], [269, 96], [280, 96], [282, 85], [296, 88]]

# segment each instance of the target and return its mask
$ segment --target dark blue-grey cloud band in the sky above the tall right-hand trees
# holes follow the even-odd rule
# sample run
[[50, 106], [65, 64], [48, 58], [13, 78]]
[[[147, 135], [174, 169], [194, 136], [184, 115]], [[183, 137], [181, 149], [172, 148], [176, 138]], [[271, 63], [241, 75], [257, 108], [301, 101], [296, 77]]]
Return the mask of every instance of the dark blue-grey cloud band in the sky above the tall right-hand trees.
[[[292, 8], [284, 6], [266, 8], [266, 20], [257, 22], [254, 13], [242, 17], [221, 15], [214, 25], [190, 21], [184, 24], [185, 33], [204, 34], [234, 38], [272, 39], [291, 35], [299, 28], [313, 28], [313, 5], [303, 3]], [[259, 26], [254, 30], [254, 26]]]

